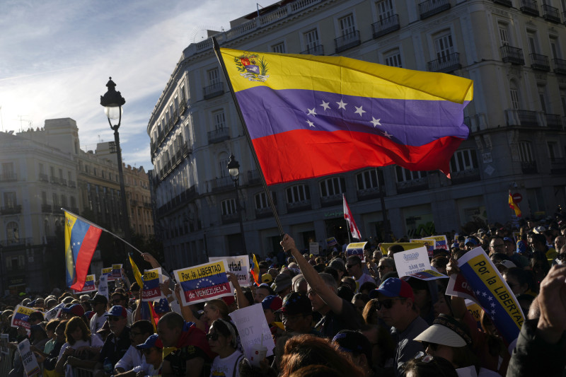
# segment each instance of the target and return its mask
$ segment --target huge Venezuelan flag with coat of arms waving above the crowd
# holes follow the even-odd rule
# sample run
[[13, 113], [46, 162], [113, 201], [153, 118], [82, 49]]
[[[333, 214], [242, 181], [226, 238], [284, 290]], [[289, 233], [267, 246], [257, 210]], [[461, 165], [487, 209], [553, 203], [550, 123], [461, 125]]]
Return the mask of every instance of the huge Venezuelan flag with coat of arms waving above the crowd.
[[220, 49], [267, 185], [366, 166], [440, 169], [473, 81], [345, 57]]

